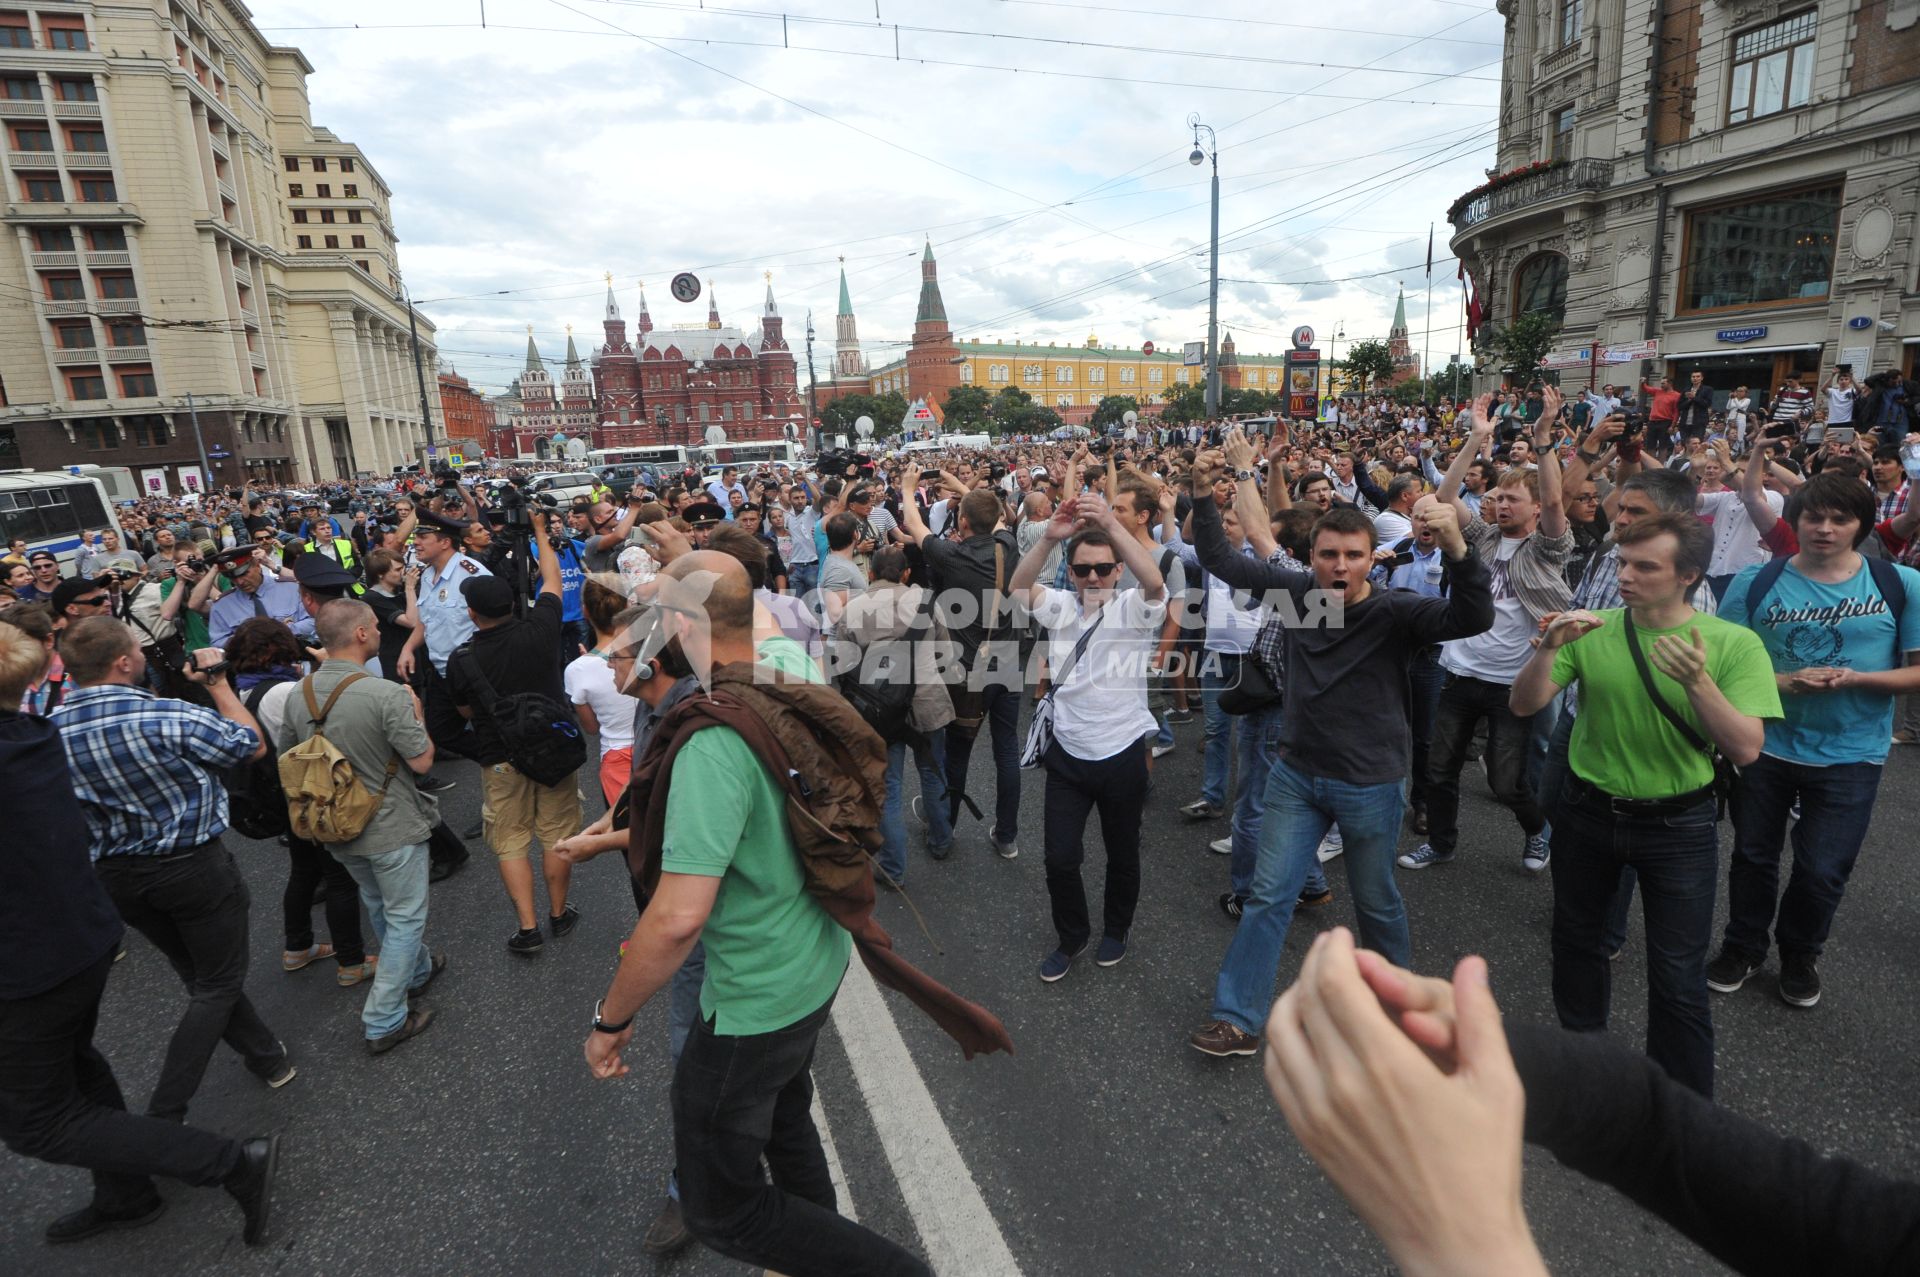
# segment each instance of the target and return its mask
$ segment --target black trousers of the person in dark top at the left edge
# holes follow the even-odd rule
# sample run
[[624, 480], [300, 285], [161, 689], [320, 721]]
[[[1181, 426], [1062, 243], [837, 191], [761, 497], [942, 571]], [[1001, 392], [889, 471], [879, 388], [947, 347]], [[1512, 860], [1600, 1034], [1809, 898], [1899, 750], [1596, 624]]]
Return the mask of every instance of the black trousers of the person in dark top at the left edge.
[[217, 1185], [240, 1164], [240, 1143], [127, 1112], [94, 1047], [111, 970], [109, 949], [46, 993], [0, 1000], [0, 1139], [23, 1158], [84, 1166], [98, 1210], [136, 1214], [156, 1196], [150, 1175]]

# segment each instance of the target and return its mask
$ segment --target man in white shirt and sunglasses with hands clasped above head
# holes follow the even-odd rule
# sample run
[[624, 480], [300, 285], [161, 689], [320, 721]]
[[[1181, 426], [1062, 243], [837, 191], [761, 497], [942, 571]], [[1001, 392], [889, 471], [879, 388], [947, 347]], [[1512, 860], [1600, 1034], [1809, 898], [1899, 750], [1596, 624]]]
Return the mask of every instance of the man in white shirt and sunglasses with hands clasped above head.
[[[1071, 591], [1035, 584], [1062, 540]], [[1133, 572], [1139, 590], [1117, 590], [1121, 566]], [[1140, 899], [1146, 737], [1158, 730], [1146, 709], [1146, 668], [1167, 614], [1167, 588], [1154, 553], [1119, 526], [1106, 501], [1087, 494], [1060, 503], [1046, 534], [1021, 555], [1008, 593], [1025, 595], [1046, 628], [1046, 668], [1054, 678], [1054, 741], [1041, 760], [1046, 895], [1060, 937], [1060, 947], [1041, 960], [1041, 979], [1050, 983], [1068, 974], [1092, 937], [1081, 860], [1094, 807], [1106, 845], [1106, 906], [1094, 960], [1114, 966], [1127, 956], [1127, 931]], [[1089, 638], [1075, 659], [1083, 636]]]

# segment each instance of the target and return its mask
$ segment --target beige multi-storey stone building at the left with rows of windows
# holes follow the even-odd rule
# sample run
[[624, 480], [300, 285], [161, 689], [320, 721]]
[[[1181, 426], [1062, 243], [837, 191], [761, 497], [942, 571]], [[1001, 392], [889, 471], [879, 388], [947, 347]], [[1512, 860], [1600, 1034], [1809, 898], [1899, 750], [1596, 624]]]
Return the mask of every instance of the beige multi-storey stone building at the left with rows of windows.
[[234, 0], [0, 0], [0, 469], [179, 494], [419, 455], [384, 182], [334, 202], [365, 252], [298, 246], [288, 159], [365, 163], [307, 71]]

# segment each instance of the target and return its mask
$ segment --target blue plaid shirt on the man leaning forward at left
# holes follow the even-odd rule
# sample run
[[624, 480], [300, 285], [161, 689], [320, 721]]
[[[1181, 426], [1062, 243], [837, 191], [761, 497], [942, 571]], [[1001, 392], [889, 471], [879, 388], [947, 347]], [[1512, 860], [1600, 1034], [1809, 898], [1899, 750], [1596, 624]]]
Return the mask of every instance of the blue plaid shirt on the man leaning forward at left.
[[227, 828], [215, 770], [253, 757], [257, 737], [209, 709], [140, 687], [77, 687], [52, 712], [86, 812], [92, 856], [167, 856]]

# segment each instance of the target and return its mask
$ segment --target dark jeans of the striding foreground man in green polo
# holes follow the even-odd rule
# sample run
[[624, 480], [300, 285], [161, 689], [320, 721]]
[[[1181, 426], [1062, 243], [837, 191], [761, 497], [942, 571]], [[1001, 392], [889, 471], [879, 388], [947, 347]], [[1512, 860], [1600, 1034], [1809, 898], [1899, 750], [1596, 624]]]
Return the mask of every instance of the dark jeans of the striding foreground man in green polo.
[[693, 1025], [672, 1087], [687, 1229], [730, 1260], [787, 1277], [924, 1277], [925, 1264], [835, 1212], [810, 1112], [814, 1045], [831, 1008], [828, 999], [772, 1033]]

